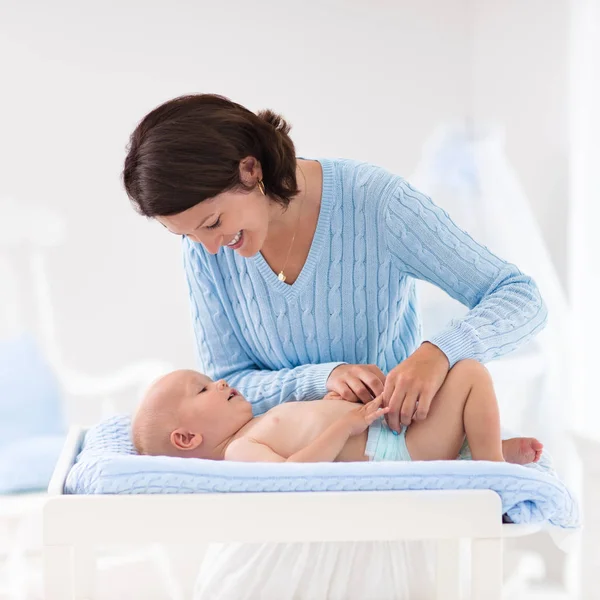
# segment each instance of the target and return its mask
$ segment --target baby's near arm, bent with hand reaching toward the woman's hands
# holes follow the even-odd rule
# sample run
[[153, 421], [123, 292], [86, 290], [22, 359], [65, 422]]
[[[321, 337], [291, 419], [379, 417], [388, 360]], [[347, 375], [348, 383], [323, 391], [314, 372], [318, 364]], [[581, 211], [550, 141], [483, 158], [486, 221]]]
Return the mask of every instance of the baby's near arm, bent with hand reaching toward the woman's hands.
[[227, 448], [226, 460], [244, 462], [333, 462], [342, 451], [348, 438], [362, 433], [388, 409], [380, 408], [382, 397], [359, 405], [341, 419], [332, 423], [308, 446], [288, 458], [277, 454], [267, 444], [250, 438], [240, 438]]

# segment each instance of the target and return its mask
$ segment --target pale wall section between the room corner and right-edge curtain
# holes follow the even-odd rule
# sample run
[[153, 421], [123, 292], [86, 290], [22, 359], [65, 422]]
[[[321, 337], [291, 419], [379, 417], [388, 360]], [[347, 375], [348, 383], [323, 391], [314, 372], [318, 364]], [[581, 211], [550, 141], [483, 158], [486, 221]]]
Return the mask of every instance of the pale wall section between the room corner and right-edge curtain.
[[567, 282], [569, 0], [473, 2], [472, 114], [506, 152]]

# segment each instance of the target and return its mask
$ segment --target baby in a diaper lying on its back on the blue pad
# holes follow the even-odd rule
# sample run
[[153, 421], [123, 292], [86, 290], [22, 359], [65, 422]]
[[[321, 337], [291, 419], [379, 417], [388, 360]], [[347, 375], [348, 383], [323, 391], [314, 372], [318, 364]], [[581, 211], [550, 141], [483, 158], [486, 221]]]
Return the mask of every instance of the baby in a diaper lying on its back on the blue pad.
[[381, 396], [353, 404], [328, 394], [254, 417], [250, 402], [225, 381], [175, 371], [150, 387], [132, 435], [140, 454], [212, 460], [452, 460], [460, 454], [526, 464], [542, 454], [535, 438], [501, 440], [492, 381], [476, 361], [460, 361], [450, 370], [424, 421], [396, 434], [381, 418], [388, 410]]

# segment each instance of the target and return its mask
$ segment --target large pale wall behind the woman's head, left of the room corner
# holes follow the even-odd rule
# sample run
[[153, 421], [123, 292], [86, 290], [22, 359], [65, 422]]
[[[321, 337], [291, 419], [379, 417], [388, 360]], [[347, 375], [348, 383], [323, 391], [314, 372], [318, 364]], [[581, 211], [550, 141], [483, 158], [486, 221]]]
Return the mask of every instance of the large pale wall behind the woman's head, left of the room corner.
[[218, 92], [283, 112], [303, 155], [410, 174], [470, 90], [467, 0], [0, 11], [0, 195], [68, 219], [66, 245], [50, 254], [57, 325], [70, 363], [92, 373], [144, 357], [193, 364], [178, 241], [134, 213], [119, 180], [148, 110]]

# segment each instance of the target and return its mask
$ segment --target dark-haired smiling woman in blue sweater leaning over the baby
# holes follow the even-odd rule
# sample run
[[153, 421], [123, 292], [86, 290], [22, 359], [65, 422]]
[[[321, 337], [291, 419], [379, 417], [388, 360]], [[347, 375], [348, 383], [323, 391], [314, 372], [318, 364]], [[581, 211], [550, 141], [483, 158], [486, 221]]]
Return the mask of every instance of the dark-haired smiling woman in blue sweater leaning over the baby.
[[[530, 277], [401, 177], [297, 159], [290, 127], [200, 94], [156, 108], [123, 173], [142, 214], [183, 236], [200, 369], [256, 414], [328, 392], [383, 392], [390, 427], [425, 419], [448, 370], [530, 340], [546, 309]], [[470, 308], [420, 339], [414, 279]]]

